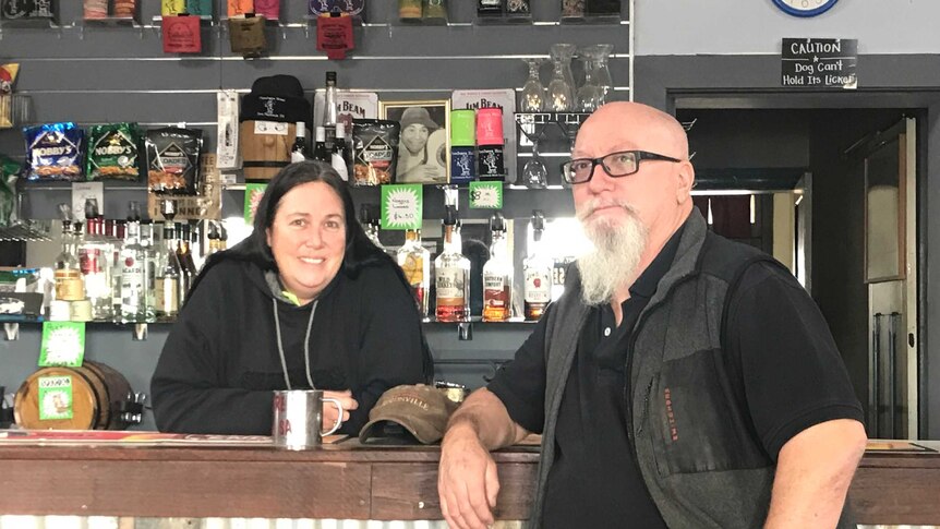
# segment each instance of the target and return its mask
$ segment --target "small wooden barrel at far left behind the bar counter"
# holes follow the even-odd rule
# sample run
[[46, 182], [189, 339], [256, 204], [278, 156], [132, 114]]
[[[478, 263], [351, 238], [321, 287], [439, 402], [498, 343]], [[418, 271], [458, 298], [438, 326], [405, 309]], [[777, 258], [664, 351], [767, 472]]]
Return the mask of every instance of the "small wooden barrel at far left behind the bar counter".
[[[40, 419], [39, 380], [70, 377], [72, 417]], [[124, 375], [99, 362], [85, 360], [81, 368], [43, 368], [29, 375], [16, 392], [13, 416], [16, 424], [29, 430], [124, 430], [130, 424], [121, 418], [131, 385]]]

